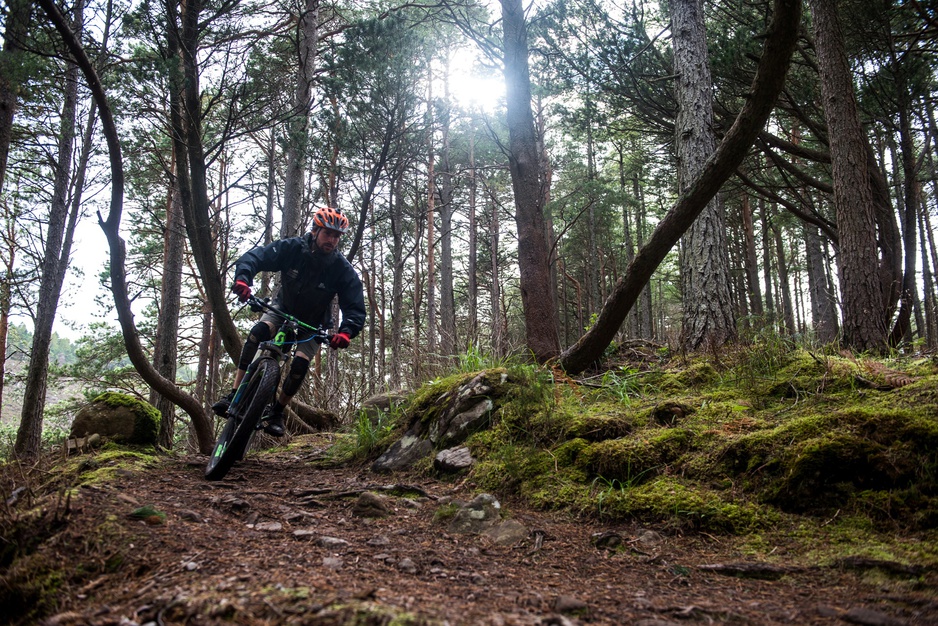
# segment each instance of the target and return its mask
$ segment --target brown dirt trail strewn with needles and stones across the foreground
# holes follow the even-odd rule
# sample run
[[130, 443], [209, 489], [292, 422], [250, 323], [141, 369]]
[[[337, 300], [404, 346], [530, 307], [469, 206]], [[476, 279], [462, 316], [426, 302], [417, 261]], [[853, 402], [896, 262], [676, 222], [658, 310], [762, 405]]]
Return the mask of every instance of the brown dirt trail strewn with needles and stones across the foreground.
[[[498, 545], [450, 532], [440, 515], [477, 495], [470, 482], [316, 467], [328, 443], [294, 439], [219, 482], [203, 479], [200, 456], [102, 474], [59, 505], [65, 523], [30, 555], [32, 574], [24, 559], [0, 568], [0, 615], [41, 601], [46, 624], [95, 626], [938, 624], [932, 568], [821, 566], [793, 537], [755, 554], [751, 537], [604, 524], [504, 497], [504, 515], [530, 533]], [[390, 515], [356, 515], [365, 491], [384, 494]], [[423, 495], [391, 495], [403, 491]], [[601, 533], [618, 549], [597, 547]], [[54, 599], [11, 597], [30, 575], [36, 590], [54, 584]]]

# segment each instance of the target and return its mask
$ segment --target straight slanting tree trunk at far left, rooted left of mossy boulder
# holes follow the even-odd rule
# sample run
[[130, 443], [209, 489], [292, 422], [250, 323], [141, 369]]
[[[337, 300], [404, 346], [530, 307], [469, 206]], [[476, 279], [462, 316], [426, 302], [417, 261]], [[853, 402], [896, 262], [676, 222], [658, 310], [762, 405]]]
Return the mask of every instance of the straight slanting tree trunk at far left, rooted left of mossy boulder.
[[[81, 33], [84, 6], [75, 6], [72, 30]], [[65, 73], [65, 92], [62, 98], [62, 113], [59, 124], [58, 151], [52, 183], [52, 203], [49, 208], [48, 227], [45, 233], [45, 248], [39, 279], [39, 297], [36, 317], [33, 320], [33, 342], [29, 352], [29, 367], [23, 392], [23, 408], [20, 427], [16, 433], [14, 450], [17, 454], [34, 458], [39, 454], [42, 441], [42, 413], [46, 404], [46, 379], [49, 373], [49, 347], [52, 342], [52, 325], [58, 308], [62, 283], [68, 271], [70, 250], [66, 247], [68, 225], [68, 193], [72, 181], [72, 153], [75, 142], [75, 112], [78, 108], [78, 66], [69, 63]], [[74, 226], [74, 223], [73, 223]]]

